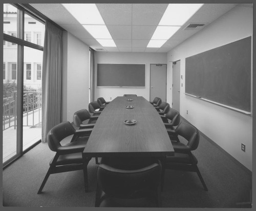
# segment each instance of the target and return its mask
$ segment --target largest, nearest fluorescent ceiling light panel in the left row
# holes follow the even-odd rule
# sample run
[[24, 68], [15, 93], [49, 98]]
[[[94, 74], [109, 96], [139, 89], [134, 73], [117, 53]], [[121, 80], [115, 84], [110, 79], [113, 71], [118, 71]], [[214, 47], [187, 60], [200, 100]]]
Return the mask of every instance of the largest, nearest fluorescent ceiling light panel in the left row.
[[105, 24], [95, 4], [62, 4], [81, 24]]

